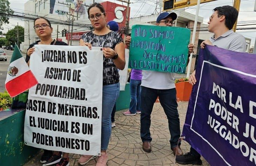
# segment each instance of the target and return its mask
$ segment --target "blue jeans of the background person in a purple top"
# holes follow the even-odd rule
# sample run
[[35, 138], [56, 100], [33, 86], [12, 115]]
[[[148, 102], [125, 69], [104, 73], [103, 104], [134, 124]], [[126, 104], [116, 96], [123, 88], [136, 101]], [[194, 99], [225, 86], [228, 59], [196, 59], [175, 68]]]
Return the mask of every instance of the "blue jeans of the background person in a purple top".
[[131, 94], [131, 102], [130, 102], [130, 112], [136, 113], [137, 111], [141, 111], [141, 80], [130, 79], [130, 94]]

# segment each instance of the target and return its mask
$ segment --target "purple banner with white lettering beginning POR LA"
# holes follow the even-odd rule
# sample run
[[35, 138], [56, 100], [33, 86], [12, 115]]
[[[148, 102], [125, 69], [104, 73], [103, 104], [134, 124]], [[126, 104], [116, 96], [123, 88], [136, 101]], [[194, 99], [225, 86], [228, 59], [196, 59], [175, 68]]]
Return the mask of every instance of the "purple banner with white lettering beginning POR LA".
[[182, 135], [212, 166], [256, 165], [256, 55], [201, 49]]

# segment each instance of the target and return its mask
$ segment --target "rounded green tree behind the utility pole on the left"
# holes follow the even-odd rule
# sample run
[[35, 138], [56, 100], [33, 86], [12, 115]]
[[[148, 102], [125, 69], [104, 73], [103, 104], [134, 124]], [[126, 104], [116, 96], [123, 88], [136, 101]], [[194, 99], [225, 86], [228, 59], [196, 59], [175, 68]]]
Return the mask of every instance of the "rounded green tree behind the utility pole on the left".
[[[19, 44], [24, 41], [24, 28], [22, 26], [15, 26], [13, 29], [8, 30], [6, 33], [6, 39], [12, 43], [12, 45], [17, 43], [18, 39], [18, 32], [17, 28], [19, 27]], [[18, 43], [17, 43], [18, 44]]]

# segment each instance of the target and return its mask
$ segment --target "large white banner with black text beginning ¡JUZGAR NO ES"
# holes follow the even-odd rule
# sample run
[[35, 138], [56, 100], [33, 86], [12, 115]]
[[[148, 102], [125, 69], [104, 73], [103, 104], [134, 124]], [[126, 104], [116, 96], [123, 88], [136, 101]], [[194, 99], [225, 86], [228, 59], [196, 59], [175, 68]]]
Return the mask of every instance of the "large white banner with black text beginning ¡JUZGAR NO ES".
[[99, 155], [101, 146], [101, 47], [35, 45], [30, 69], [25, 145]]

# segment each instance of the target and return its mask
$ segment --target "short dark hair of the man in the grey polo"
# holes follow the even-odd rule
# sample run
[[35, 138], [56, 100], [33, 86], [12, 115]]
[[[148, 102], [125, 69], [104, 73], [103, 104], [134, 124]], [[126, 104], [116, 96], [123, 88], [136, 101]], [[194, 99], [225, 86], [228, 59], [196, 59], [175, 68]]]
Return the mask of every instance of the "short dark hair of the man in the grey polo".
[[224, 15], [225, 16], [225, 26], [230, 30], [233, 28], [237, 17], [238, 17], [238, 11], [233, 6], [220, 6], [213, 9], [214, 12], [218, 11], [218, 15]]

